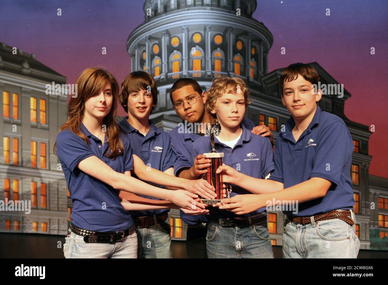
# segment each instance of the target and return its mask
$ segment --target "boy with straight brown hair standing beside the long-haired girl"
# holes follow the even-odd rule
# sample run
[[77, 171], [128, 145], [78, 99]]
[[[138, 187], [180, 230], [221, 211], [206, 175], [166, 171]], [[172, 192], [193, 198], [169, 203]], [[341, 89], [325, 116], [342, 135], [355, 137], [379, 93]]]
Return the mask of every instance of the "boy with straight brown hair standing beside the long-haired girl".
[[[133, 154], [145, 165], [174, 176], [175, 154], [171, 149], [170, 136], [149, 119], [158, 102], [157, 94], [156, 82], [150, 74], [144, 71], [130, 73], [121, 85], [120, 94], [120, 103], [128, 116], [119, 123], [119, 127], [128, 136]], [[151, 182], [147, 183], [164, 188]], [[138, 237], [138, 258], [171, 258], [169, 211], [130, 211]]]

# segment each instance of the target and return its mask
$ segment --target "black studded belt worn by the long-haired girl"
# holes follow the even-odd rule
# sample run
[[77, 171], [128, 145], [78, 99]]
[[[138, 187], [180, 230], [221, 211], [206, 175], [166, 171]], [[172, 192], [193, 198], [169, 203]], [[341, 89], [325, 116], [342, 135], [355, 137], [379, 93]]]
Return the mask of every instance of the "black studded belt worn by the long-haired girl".
[[115, 243], [121, 242], [123, 237], [127, 237], [133, 231], [135, 231], [135, 225], [131, 226], [128, 230], [125, 231], [89, 231], [78, 228], [70, 223], [70, 230], [77, 234], [83, 236], [84, 242], [99, 242], [99, 243]]

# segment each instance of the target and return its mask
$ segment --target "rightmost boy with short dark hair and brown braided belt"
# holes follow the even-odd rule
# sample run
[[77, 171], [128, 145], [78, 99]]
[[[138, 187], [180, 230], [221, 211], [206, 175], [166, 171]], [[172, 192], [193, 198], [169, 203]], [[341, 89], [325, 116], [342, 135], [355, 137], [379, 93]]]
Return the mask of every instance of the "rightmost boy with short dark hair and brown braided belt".
[[[275, 170], [260, 180], [221, 166], [217, 171], [224, 171], [226, 182], [261, 195], [223, 199], [229, 204], [220, 209], [244, 214], [281, 203], [287, 215], [283, 257], [357, 258], [350, 176], [354, 145], [343, 120], [317, 106], [322, 97], [314, 89], [318, 81], [317, 71], [307, 64], [291, 64], [282, 72], [282, 102], [291, 117], [277, 137]], [[292, 202], [296, 209], [286, 207]]]

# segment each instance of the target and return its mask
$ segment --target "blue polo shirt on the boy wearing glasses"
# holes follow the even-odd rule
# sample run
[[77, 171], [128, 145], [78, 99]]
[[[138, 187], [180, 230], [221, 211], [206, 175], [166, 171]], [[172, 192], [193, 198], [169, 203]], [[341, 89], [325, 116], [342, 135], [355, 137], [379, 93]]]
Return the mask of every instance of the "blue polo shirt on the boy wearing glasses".
[[[255, 124], [244, 117], [241, 123], [249, 130], [255, 128]], [[183, 126], [185, 126], [185, 122], [182, 121]], [[171, 147], [177, 156], [177, 159], [174, 163], [174, 174], [177, 176], [178, 172], [184, 168], [191, 168], [194, 164], [194, 159], [191, 157], [191, 148], [192, 143], [197, 139], [203, 136], [203, 134], [198, 135], [196, 133], [191, 133], [184, 128], [184, 132], [180, 132], [182, 128], [177, 126], [175, 129], [170, 131], [171, 136]], [[194, 157], [195, 158], [195, 157]], [[180, 211], [180, 218], [182, 221], [187, 223], [188, 225], [196, 225], [197, 223], [206, 223], [208, 222], [207, 215], [188, 215], [185, 212]]]

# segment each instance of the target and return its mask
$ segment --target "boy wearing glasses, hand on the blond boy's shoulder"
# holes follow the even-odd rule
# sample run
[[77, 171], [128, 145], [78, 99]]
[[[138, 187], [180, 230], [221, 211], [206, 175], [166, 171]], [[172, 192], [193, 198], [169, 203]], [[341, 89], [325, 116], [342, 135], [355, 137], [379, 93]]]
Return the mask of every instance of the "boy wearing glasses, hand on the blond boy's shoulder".
[[[170, 99], [177, 115], [182, 119], [182, 123], [170, 131], [171, 147], [173, 148], [177, 160], [174, 163], [175, 176], [187, 179], [197, 179], [206, 173], [208, 159], [205, 156], [197, 155], [191, 158], [192, 143], [201, 136], [204, 136], [203, 128], [190, 128], [198, 124], [204, 126], [208, 121], [213, 121], [213, 117], [206, 109], [206, 92], [201, 86], [191, 78], [180, 78], [171, 87]], [[247, 129], [252, 129], [255, 135], [268, 136], [272, 142], [272, 133], [265, 125], [255, 126], [246, 117], [242, 119], [242, 124]], [[208, 193], [197, 193], [203, 197], [211, 199]], [[188, 224], [186, 251], [189, 258], [206, 258], [206, 215], [193, 216], [180, 211], [182, 221]]]

